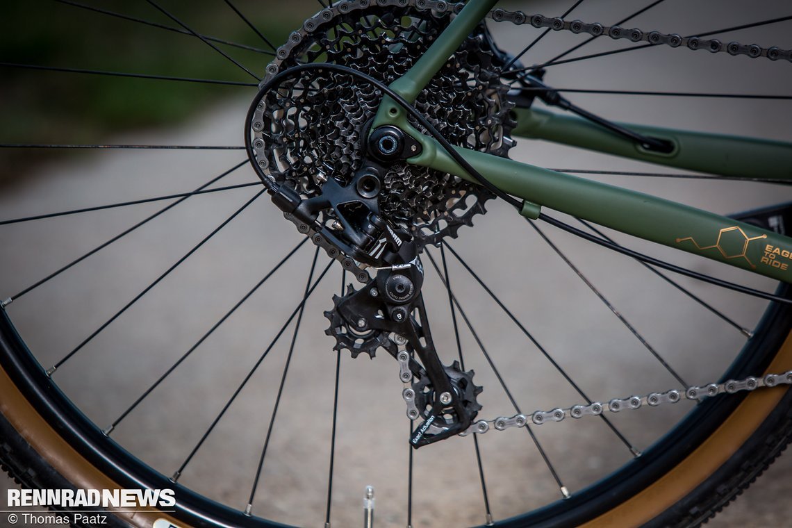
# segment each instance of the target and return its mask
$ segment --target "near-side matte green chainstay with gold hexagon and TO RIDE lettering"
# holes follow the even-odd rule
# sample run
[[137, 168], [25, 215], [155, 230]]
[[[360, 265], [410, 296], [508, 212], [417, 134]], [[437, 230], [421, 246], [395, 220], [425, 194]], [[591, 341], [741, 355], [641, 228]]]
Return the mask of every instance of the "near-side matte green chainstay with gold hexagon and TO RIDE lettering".
[[[424, 147], [421, 155], [409, 159], [411, 163], [475, 182], [434, 139], [422, 137], [414, 129], [406, 131], [421, 138]], [[765, 254], [768, 245], [778, 248], [779, 253], [792, 252], [790, 237], [641, 192], [475, 150], [456, 150], [498, 188], [530, 201], [531, 205], [523, 207], [529, 214], [535, 212], [534, 204], [550, 207], [645, 240], [792, 283], [792, 259], [780, 254], [770, 258]], [[763, 262], [763, 258], [767, 260]], [[786, 269], [773, 267], [770, 260], [776, 260], [779, 266], [787, 264]]]

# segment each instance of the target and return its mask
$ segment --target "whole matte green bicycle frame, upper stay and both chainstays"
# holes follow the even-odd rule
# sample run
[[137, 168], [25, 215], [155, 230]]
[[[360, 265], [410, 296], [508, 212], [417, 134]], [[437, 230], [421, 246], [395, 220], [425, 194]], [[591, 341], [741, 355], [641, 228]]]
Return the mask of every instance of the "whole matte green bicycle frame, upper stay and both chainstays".
[[[496, 3], [497, 0], [470, 0], [421, 59], [390, 88], [406, 101], [415, 101], [421, 89]], [[792, 144], [786, 142], [624, 123], [643, 135], [672, 142], [671, 152], [655, 153], [581, 118], [531, 108], [518, 108], [516, 116], [514, 135], [722, 176], [792, 180]], [[410, 158], [409, 163], [477, 182], [440, 143], [410, 126], [402, 107], [390, 97], [383, 99], [373, 127], [384, 124], [400, 127], [421, 143], [421, 154]], [[455, 150], [497, 188], [524, 199], [521, 212], [528, 218], [537, 218], [541, 207], [549, 207], [625, 234], [792, 283], [790, 237], [641, 192], [476, 150]]]

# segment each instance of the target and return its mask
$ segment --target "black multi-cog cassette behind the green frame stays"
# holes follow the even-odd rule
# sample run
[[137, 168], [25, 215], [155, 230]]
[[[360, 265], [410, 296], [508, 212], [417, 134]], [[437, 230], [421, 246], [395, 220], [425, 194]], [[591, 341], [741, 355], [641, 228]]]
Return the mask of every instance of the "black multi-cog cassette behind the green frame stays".
[[[267, 66], [264, 82], [291, 66], [314, 62], [341, 64], [393, 82], [455, 16], [454, 4], [427, 9], [426, 3], [336, 2], [292, 33]], [[452, 144], [506, 156], [515, 123], [498, 57], [482, 25], [414, 104]], [[263, 127], [253, 131], [258, 165], [303, 197], [317, 196], [327, 177], [345, 183], [363, 162], [364, 136], [380, 100], [374, 86], [336, 71], [284, 81], [260, 103]], [[422, 247], [456, 237], [460, 226], [472, 225], [474, 215], [485, 212], [491, 198], [466, 180], [399, 163], [384, 178], [379, 207], [384, 218], [408, 230]]]

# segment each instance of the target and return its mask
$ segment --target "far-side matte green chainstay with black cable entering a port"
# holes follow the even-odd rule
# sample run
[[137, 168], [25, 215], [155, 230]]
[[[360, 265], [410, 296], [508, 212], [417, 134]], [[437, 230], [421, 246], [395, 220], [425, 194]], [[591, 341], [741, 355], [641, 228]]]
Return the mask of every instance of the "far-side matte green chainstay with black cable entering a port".
[[512, 135], [721, 176], [792, 180], [792, 143], [620, 123], [674, 143], [671, 153], [657, 154], [577, 116], [531, 108], [516, 109], [516, 116]]

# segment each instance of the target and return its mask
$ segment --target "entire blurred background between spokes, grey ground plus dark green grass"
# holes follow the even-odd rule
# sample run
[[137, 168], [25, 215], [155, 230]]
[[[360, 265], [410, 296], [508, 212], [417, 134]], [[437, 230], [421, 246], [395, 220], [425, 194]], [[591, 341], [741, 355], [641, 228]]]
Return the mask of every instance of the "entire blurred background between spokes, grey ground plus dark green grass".
[[[87, 2], [87, 0], [86, 0]], [[179, 78], [253, 82], [193, 36], [154, 28], [139, 21], [97, 13], [77, 2], [7, 2], [0, 20], [0, 143], [149, 144], [240, 146], [247, 107], [256, 89], [249, 86], [162, 81], [63, 71], [32, 70], [9, 63], [54, 66]], [[87, 2], [158, 25], [176, 26], [146, 2]], [[313, 14], [319, 2], [238, 0], [234, 6], [276, 46]], [[571, 3], [571, 2], [569, 2]], [[643, 2], [649, 5], [650, 2]], [[643, 5], [642, 3], [642, 5]], [[81, 4], [82, 5], [82, 4]], [[223, 2], [162, 2], [191, 28], [242, 46], [223, 47], [254, 72], [271, 57], [268, 46]], [[502, 2], [506, 9], [557, 16], [558, 2]], [[570, 17], [610, 23], [638, 9], [634, 0], [582, 2]], [[631, 21], [629, 27], [687, 35], [748, 21], [781, 17], [784, 6], [752, 2], [668, 0]], [[539, 31], [527, 26], [491, 25], [501, 46], [519, 51]], [[789, 25], [733, 32], [724, 41], [792, 47]], [[531, 50], [525, 63], [549, 59], [577, 44], [581, 36], [551, 33]], [[626, 46], [599, 39], [579, 54]], [[788, 63], [710, 55], [661, 47], [548, 68], [550, 85], [566, 88], [650, 89], [702, 93], [789, 94]], [[574, 94], [575, 103], [612, 120], [633, 120], [695, 130], [741, 133], [792, 140], [789, 101], [614, 97]], [[544, 142], [520, 141], [512, 158], [562, 169], [654, 170], [649, 165], [588, 154]], [[67, 211], [174, 192], [187, 192], [245, 160], [227, 150], [60, 150], [0, 149], [0, 211], [18, 218]], [[255, 180], [247, 165], [220, 185]], [[729, 214], [792, 199], [787, 187], [745, 182], [701, 182], [601, 175], [625, 185]], [[212, 193], [185, 201], [117, 244], [97, 253], [9, 306], [26, 343], [46, 367], [73, 351], [174, 261], [192, 249], [220, 222], [253, 196], [249, 188]], [[168, 203], [168, 202], [166, 202]], [[153, 215], [162, 203], [120, 207], [84, 215], [0, 226], [6, 259], [0, 264], [0, 297], [35, 283], [103, 241]], [[485, 277], [507, 306], [520, 314], [554, 359], [584, 386], [592, 399], [676, 386], [668, 372], [558, 256], [507, 207], [493, 203], [460, 231], [451, 245]], [[739, 332], [701, 313], [699, 306], [637, 264], [606, 250], [548, 231], [558, 246], [690, 383], [711, 382], [739, 351]], [[115, 420], [132, 401], [301, 238], [275, 207], [262, 198], [196, 252], [178, 273], [154, 290], [97, 337], [81, 347], [55, 380], [100, 427]], [[626, 238], [620, 238], [626, 241]], [[723, 269], [695, 256], [669, 255], [630, 241], [696, 271], [771, 289], [769, 281]], [[430, 251], [438, 261], [440, 253]], [[218, 332], [174, 371], [168, 382], [124, 419], [113, 438], [139, 458], [172, 474], [206, 431], [211, 420], [246, 376], [272, 336], [301, 298], [314, 255], [303, 247], [261, 291], [234, 313]], [[466, 313], [474, 321], [505, 374], [516, 399], [527, 409], [580, 403], [525, 337], [448, 256], [449, 273]], [[317, 271], [326, 265], [319, 256]], [[425, 259], [425, 297], [432, 333], [444, 363], [455, 359], [456, 345], [442, 284]], [[336, 355], [324, 335], [323, 310], [341, 289], [334, 265], [307, 303], [295, 362], [288, 372], [283, 407], [274, 422], [254, 513], [297, 526], [322, 526], [326, 507], [329, 435], [333, 415]], [[349, 282], [347, 278], [347, 282]], [[717, 305], [741, 325], [751, 327], [763, 310], [752, 298], [680, 279], [680, 283]], [[293, 327], [254, 372], [238, 401], [188, 465], [181, 483], [231, 507], [245, 507], [253, 468], [267, 437], [276, 393], [284, 372]], [[607, 332], [607, 339], [599, 332]], [[466, 368], [485, 387], [482, 416], [512, 413], [496, 376], [463, 329]], [[380, 352], [373, 361], [341, 355], [333, 526], [358, 526], [364, 486], [377, 492], [377, 525], [405, 526], [406, 444], [402, 386], [395, 362]], [[614, 416], [638, 449], [644, 450], [691, 408], [642, 409]], [[493, 431], [480, 439], [495, 519], [505, 519], [558, 499], [542, 458], [520, 431]], [[599, 420], [539, 427], [539, 440], [570, 491], [628, 462], [629, 451]], [[418, 451], [414, 458], [416, 496], [413, 526], [469, 526], [484, 522], [481, 484], [470, 439], [451, 439]], [[448, 461], [453, 461], [449, 463]], [[714, 519], [714, 526], [781, 526], [792, 508], [786, 499], [792, 462], [782, 457], [767, 477], [736, 505]], [[10, 485], [8, 480], [4, 485]]]

